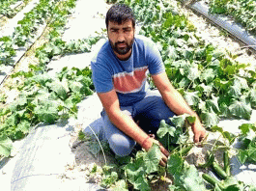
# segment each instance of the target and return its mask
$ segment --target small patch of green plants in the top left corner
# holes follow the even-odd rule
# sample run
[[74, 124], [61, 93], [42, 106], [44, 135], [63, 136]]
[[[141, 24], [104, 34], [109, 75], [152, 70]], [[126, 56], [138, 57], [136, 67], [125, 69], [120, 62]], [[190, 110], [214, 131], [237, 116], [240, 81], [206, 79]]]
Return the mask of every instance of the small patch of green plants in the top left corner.
[[[29, 0], [23, 0], [22, 3], [27, 4]], [[12, 8], [12, 6], [20, 2], [20, 0], [2, 0], [0, 2], [0, 15], [5, 15], [7, 17], [13, 17], [16, 13], [16, 9]]]

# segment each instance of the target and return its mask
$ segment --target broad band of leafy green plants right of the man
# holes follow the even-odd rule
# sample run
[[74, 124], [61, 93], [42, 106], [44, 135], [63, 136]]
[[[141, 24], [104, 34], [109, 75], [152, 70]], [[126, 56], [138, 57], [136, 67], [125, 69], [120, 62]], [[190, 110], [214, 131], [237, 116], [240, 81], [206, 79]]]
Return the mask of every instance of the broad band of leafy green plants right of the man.
[[[154, 15], [159, 4], [143, 3], [135, 14], [143, 16], [144, 9]], [[249, 120], [256, 103], [255, 68], [237, 62], [237, 55], [228, 50], [220, 52], [196, 37], [196, 29], [185, 15], [178, 14], [177, 7], [171, 9], [163, 2], [161, 11], [161, 16], [152, 17], [159, 17], [155, 22], [143, 22], [140, 34], [158, 44], [170, 81], [205, 126], [216, 125], [220, 118]]]

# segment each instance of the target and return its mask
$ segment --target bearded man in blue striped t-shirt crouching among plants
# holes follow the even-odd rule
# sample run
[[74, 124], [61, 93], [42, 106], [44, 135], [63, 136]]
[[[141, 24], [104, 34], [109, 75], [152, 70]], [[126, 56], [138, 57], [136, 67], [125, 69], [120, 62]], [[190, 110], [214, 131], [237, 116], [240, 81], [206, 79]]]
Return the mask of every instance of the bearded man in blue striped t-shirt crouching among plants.
[[[136, 143], [149, 150], [156, 142], [149, 133], [156, 134], [160, 121], [185, 113], [196, 117], [191, 124], [194, 142], [201, 141], [205, 129], [169, 82], [156, 45], [145, 37], [134, 38], [135, 19], [130, 8], [113, 5], [105, 22], [108, 41], [92, 60], [92, 70], [110, 148], [120, 156], [128, 155]], [[157, 93], [148, 88], [148, 70]], [[160, 164], [165, 165], [169, 153], [162, 146], [160, 150]]]

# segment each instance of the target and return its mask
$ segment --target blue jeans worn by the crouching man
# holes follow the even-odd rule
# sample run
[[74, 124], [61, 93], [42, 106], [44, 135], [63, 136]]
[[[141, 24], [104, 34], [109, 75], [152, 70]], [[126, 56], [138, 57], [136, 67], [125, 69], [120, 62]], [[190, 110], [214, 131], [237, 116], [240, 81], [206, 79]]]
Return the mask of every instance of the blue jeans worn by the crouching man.
[[[131, 106], [121, 107], [121, 110], [138, 122], [146, 133], [154, 134], [156, 134], [161, 120], [168, 123], [169, 118], [175, 115], [164, 103], [158, 91], [150, 91], [142, 100]], [[101, 112], [101, 116], [104, 123], [104, 135], [111, 150], [119, 156], [128, 155], [136, 142], [111, 123], [104, 110]]]

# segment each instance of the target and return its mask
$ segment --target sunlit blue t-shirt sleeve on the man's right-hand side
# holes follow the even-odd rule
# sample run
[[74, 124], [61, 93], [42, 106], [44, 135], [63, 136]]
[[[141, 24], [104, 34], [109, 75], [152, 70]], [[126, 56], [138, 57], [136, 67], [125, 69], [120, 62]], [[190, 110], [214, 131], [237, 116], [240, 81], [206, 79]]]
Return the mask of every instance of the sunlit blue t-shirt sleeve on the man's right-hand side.
[[165, 71], [160, 52], [154, 41], [147, 41], [146, 45], [146, 59], [149, 64], [149, 71], [152, 75], [159, 74]]

